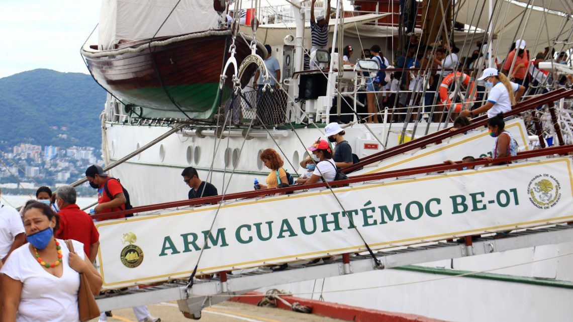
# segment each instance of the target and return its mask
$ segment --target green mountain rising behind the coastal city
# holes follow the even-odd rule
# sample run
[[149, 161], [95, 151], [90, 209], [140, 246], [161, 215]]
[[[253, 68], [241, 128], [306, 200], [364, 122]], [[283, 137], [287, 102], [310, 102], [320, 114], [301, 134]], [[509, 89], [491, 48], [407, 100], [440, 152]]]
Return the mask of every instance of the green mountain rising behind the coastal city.
[[100, 147], [104, 103], [88, 74], [34, 69], [0, 78], [0, 145]]

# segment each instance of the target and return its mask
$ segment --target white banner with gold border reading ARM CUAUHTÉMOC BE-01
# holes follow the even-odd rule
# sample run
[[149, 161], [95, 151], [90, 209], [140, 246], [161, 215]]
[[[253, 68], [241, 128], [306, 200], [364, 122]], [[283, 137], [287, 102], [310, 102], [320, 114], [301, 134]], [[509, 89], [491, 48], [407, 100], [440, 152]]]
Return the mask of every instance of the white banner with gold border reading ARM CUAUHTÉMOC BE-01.
[[[104, 287], [442, 240], [573, 218], [571, 159], [418, 175], [98, 223]], [[349, 220], [354, 222], [354, 225]]]

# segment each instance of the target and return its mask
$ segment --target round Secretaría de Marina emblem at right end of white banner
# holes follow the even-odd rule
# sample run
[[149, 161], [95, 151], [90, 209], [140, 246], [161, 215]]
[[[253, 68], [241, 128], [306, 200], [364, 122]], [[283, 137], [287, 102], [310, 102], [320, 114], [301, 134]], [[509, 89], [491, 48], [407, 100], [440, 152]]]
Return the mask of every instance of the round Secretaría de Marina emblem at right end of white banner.
[[561, 199], [559, 180], [550, 174], [538, 174], [527, 186], [529, 201], [539, 209], [550, 209]]

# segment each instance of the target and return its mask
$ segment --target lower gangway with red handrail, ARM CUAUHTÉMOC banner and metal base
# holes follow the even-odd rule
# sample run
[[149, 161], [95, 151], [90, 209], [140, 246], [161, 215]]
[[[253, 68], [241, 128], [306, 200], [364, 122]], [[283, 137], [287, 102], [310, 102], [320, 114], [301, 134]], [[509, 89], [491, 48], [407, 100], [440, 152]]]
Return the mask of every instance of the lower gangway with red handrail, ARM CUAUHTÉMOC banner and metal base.
[[[95, 215], [106, 218], [170, 209], [159, 215], [138, 215], [96, 224], [100, 231], [98, 262], [104, 286], [153, 285], [103, 296], [97, 301], [102, 311], [109, 311], [176, 300], [185, 316], [198, 319], [204, 307], [265, 286], [570, 242], [573, 241], [573, 225], [568, 224], [573, 221], [572, 159], [562, 155], [571, 152], [573, 146], [560, 146], [520, 152], [494, 161], [520, 160], [504, 166], [457, 171], [461, 170], [461, 164], [433, 164], [354, 176], [331, 182], [339, 186], [332, 190], [324, 190], [325, 183], [319, 183]], [[478, 159], [464, 166], [488, 163], [486, 159]], [[496, 190], [489, 191], [489, 183], [496, 179], [500, 181]], [[343, 187], [344, 183], [350, 186]], [[305, 191], [308, 188], [322, 190]], [[303, 191], [274, 196], [295, 190]], [[416, 197], [421, 191], [430, 194], [422, 195], [419, 201], [408, 199], [407, 194]], [[332, 198], [344, 199], [335, 204]], [[409, 200], [413, 201], [406, 205]], [[197, 206], [205, 203], [212, 205]], [[293, 207], [295, 204], [300, 205], [298, 209]], [[189, 205], [197, 207], [172, 209]], [[374, 205], [380, 209], [376, 216], [381, 217], [373, 217]], [[483, 211], [486, 207], [488, 211]], [[270, 214], [269, 210], [274, 211], [274, 221], [280, 222], [281, 216], [286, 216], [274, 239], [270, 232], [273, 221], [265, 216]], [[345, 217], [348, 221], [343, 222]], [[261, 218], [267, 220], [268, 237], [260, 231], [263, 223], [257, 223], [265, 221]], [[309, 218], [315, 221], [312, 232], [303, 225]], [[291, 225], [299, 221], [301, 227], [293, 229]], [[204, 230], [209, 226], [209, 230]], [[163, 231], [164, 227], [170, 231]], [[513, 233], [505, 238], [490, 237], [496, 231], [508, 230]], [[158, 231], [163, 233], [159, 237]], [[199, 240], [201, 233], [203, 241]], [[476, 234], [489, 237], [472, 242], [471, 236]], [[447, 241], [460, 237], [465, 238], [464, 244]], [[203, 250], [206, 255], [201, 259]], [[337, 260], [316, 266], [304, 264], [325, 256], [336, 256]], [[281, 263], [288, 263], [288, 268], [277, 272], [260, 268]], [[193, 274], [185, 270], [193, 265]], [[252, 272], [238, 273], [238, 269]], [[216, 277], [197, 278], [195, 272], [198, 276]]]

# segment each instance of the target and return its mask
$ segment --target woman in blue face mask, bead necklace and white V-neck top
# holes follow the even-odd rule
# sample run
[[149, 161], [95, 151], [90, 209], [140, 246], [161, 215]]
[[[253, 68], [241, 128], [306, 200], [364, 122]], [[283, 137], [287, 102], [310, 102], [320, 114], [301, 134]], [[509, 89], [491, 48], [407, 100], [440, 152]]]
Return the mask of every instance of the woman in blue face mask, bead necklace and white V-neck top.
[[[0, 272], [2, 275], [3, 322], [79, 322], [77, 292], [80, 274], [85, 274], [92, 291], [101, 289], [101, 277], [83, 252], [70, 253], [64, 240], [53, 236], [58, 216], [40, 202], [24, 210], [28, 244], [14, 250]], [[83, 250], [72, 241], [75, 250]]]

